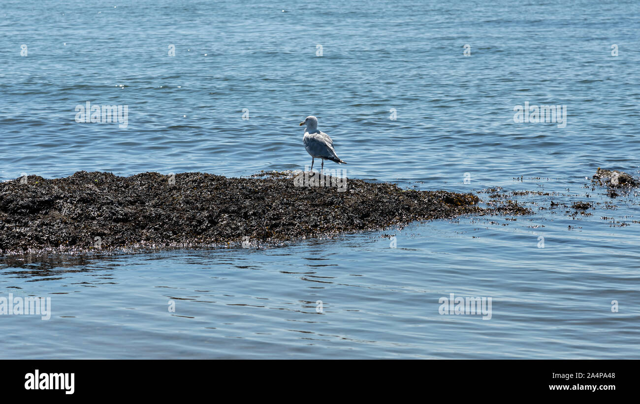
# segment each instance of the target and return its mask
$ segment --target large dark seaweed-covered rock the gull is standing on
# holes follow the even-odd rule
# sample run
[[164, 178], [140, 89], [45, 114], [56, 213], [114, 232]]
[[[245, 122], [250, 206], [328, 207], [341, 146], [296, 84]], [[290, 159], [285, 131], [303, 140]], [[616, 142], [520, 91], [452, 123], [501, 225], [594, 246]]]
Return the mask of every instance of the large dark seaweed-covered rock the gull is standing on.
[[513, 201], [482, 207], [474, 194], [315, 176], [327, 186], [296, 183], [294, 173], [17, 178], [0, 183], [0, 254], [278, 245], [412, 221], [532, 213]]

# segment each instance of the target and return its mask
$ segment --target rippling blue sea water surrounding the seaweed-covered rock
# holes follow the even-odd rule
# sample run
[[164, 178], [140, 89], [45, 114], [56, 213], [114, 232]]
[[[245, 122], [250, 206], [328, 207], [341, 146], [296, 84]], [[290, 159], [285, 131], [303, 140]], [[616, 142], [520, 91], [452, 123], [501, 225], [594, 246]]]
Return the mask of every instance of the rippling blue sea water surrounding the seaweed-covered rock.
[[[550, 195], [515, 221], [0, 261], [0, 297], [52, 310], [1, 315], [0, 357], [640, 359], [637, 195], [585, 179], [639, 171], [639, 38], [636, 1], [4, 1], [0, 180], [304, 169], [313, 114], [349, 178]], [[77, 123], [87, 101], [127, 127]], [[515, 123], [525, 102], [566, 127]], [[441, 315], [450, 293], [492, 317]]]

